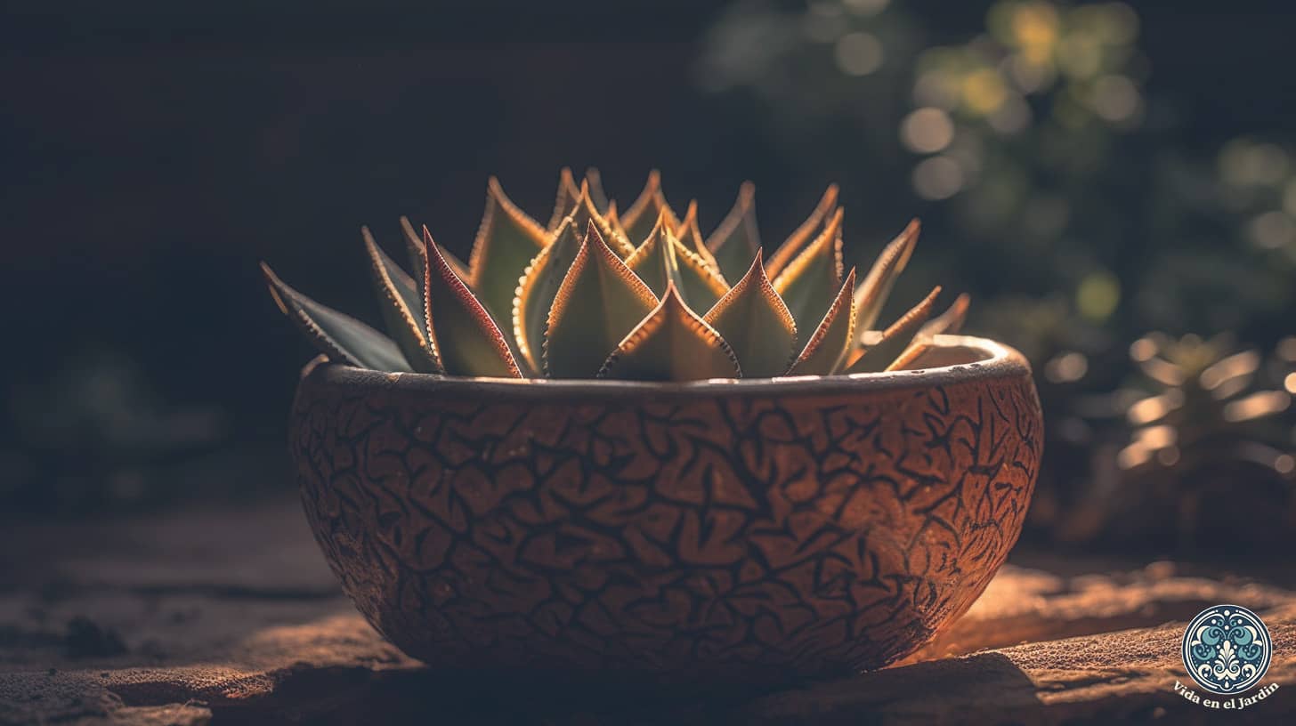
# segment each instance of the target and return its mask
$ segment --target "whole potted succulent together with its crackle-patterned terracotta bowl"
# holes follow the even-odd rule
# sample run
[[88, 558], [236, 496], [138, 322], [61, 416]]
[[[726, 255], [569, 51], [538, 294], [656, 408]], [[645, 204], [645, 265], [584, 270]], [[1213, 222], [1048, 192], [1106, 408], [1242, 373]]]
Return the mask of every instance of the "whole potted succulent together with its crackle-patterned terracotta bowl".
[[623, 211], [564, 170], [540, 224], [494, 179], [468, 263], [364, 242], [390, 337], [264, 267], [324, 357], [302, 499], [369, 622], [433, 666], [770, 682], [877, 668], [963, 613], [1023, 524], [1041, 411], [940, 289], [871, 331], [918, 239], [857, 281], [831, 187], [766, 257], [654, 172]]

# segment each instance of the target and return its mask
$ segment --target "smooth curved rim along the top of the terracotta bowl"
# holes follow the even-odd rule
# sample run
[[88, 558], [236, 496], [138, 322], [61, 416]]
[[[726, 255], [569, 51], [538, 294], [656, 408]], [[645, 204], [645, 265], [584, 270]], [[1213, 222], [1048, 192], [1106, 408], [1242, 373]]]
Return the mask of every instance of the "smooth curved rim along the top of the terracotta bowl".
[[1030, 376], [1030, 364], [1017, 350], [975, 336], [936, 336], [937, 349], [964, 349], [975, 355], [968, 362], [879, 373], [833, 376], [783, 376], [776, 379], [708, 379], [700, 381], [613, 381], [601, 379], [498, 379], [406, 373], [356, 368], [333, 363], [324, 355], [302, 369], [302, 381], [362, 389], [407, 393], [437, 393], [555, 401], [617, 395], [697, 397], [697, 395], [797, 395], [861, 393], [928, 388], [934, 385], [984, 382]]

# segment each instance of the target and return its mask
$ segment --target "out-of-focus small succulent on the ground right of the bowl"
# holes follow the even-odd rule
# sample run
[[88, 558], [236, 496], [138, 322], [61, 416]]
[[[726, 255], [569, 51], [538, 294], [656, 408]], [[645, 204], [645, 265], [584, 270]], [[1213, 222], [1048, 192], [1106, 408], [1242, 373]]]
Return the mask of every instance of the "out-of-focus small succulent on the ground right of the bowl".
[[1181, 547], [1286, 537], [1296, 521], [1296, 451], [1280, 417], [1291, 393], [1265, 380], [1260, 351], [1236, 350], [1227, 334], [1153, 332], [1130, 359], [1137, 380], [1109, 397], [1120, 436], [1095, 451], [1060, 537]]

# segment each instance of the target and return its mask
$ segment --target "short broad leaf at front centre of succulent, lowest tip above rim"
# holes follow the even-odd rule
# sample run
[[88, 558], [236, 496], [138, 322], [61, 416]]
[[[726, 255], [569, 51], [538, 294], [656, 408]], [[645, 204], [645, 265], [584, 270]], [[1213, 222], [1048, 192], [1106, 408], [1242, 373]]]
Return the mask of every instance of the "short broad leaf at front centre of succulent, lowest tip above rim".
[[695, 381], [737, 379], [743, 372], [724, 338], [689, 310], [675, 285], [621, 341], [599, 371], [600, 379]]

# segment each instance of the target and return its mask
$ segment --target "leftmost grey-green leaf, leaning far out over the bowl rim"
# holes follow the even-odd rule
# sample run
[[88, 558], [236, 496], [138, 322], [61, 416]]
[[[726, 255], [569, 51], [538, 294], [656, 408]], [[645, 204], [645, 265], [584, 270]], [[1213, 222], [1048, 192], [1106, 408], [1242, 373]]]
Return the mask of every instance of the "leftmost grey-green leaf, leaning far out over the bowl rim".
[[391, 338], [288, 287], [264, 262], [260, 263], [260, 271], [266, 275], [270, 294], [279, 310], [306, 333], [316, 350], [334, 363], [375, 371], [411, 369]]

